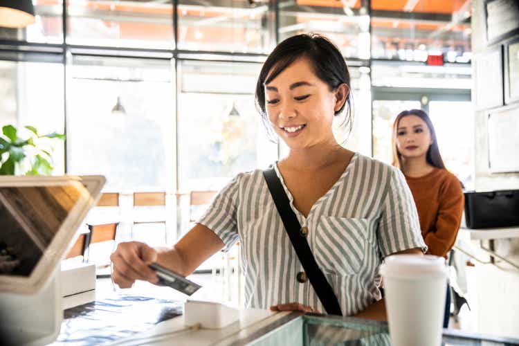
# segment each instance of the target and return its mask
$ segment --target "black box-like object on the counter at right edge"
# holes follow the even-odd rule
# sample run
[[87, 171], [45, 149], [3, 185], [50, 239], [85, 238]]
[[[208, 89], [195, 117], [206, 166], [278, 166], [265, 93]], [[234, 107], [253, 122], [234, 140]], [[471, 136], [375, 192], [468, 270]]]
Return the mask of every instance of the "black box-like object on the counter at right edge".
[[519, 226], [519, 190], [464, 192], [468, 228]]

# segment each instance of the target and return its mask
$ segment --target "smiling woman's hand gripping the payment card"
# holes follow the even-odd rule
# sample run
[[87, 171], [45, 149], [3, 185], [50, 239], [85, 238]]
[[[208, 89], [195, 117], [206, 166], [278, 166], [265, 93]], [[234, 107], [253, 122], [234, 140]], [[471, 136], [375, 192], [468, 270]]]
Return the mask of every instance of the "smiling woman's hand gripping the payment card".
[[158, 282], [155, 271], [148, 266], [157, 260], [157, 252], [144, 243], [120, 243], [110, 260], [113, 264], [111, 278], [121, 289], [131, 287], [135, 280]]

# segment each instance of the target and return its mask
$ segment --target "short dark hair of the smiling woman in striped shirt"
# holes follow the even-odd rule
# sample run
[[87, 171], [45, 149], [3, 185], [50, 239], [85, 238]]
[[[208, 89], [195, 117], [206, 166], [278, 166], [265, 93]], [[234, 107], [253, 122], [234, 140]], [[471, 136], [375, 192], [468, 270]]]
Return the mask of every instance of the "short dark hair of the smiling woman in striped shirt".
[[352, 131], [353, 96], [349, 86], [349, 71], [344, 57], [327, 37], [310, 33], [289, 37], [278, 44], [268, 55], [262, 71], [260, 71], [260, 76], [257, 78], [256, 107], [262, 116], [268, 134], [272, 134], [272, 131], [266, 116], [264, 84], [271, 82], [295, 60], [302, 57], [310, 61], [313, 66], [313, 73], [322, 82], [325, 82], [331, 91], [336, 90], [341, 84], [347, 85], [349, 89], [347, 100], [343, 107], [335, 112], [335, 115], [338, 116], [342, 113], [347, 104], [348, 110], [341, 125], [345, 125], [348, 131]]

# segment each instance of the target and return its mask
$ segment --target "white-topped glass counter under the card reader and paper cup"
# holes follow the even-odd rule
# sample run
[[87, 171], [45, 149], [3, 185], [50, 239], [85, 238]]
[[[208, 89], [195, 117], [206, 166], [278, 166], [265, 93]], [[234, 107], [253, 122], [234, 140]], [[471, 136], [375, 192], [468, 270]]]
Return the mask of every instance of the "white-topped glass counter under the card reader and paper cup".
[[[388, 324], [374, 320], [243, 309], [239, 322], [206, 329], [185, 326], [182, 314], [179, 301], [132, 295], [131, 289], [100, 295], [95, 302], [64, 311], [53, 346], [391, 345]], [[519, 340], [444, 329], [443, 345], [511, 346]]]

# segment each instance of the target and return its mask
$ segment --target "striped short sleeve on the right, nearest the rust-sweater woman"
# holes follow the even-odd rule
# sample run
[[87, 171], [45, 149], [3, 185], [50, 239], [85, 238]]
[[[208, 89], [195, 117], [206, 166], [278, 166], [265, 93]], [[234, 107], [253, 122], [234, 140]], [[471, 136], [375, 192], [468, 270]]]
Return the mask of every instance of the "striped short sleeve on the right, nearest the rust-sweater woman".
[[394, 167], [390, 167], [389, 174], [377, 233], [381, 256], [410, 248], [421, 248], [425, 253], [427, 246], [421, 236], [417, 207], [406, 178]]

